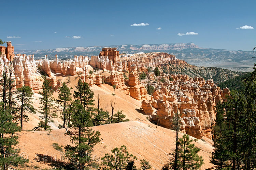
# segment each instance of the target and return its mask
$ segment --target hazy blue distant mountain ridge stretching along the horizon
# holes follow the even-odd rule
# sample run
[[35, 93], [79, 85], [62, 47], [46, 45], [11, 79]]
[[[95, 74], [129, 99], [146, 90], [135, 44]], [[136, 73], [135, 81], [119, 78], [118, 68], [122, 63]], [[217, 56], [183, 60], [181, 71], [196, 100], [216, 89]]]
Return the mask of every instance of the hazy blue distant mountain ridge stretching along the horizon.
[[222, 67], [233, 71], [252, 71], [253, 63], [256, 62], [252, 59], [252, 57], [256, 57], [256, 52], [200, 48], [194, 43], [64, 47], [46, 50], [15, 50], [14, 47], [14, 52], [34, 54], [35, 59], [43, 58], [44, 55], [53, 59], [55, 54], [58, 54], [59, 58], [73, 58], [74, 55], [99, 55], [103, 47], [116, 47], [120, 54], [167, 52], [192, 65]]

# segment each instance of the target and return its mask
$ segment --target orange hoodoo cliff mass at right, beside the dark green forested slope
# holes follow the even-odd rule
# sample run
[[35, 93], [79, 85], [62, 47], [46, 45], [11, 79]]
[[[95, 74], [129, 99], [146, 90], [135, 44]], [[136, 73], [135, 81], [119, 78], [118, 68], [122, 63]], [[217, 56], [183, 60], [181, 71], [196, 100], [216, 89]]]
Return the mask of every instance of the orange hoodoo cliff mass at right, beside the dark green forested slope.
[[215, 120], [216, 103], [222, 101], [229, 90], [221, 90], [213, 80], [193, 79], [188, 75], [162, 73], [161, 78], [165, 80], [153, 84], [156, 90], [151, 100], [142, 101], [145, 114], [152, 121], [159, 119], [162, 126], [171, 129], [173, 117], [178, 112], [182, 132], [196, 138], [205, 136], [212, 139], [211, 127]]

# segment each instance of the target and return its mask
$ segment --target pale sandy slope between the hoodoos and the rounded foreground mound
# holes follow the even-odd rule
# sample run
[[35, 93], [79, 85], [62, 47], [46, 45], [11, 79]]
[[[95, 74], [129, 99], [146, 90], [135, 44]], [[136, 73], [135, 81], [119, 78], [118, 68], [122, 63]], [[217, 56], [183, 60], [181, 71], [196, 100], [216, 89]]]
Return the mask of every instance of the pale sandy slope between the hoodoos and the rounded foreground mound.
[[[74, 94], [74, 90], [76, 90], [75, 86], [77, 85], [77, 82], [79, 80], [77, 75], [71, 76], [70, 77], [70, 82], [68, 82], [68, 77], [67, 76], [59, 76], [57, 79], [61, 79], [62, 82], [66, 82], [68, 87], [72, 87], [71, 89], [71, 94]], [[115, 101], [115, 108], [114, 108], [114, 113], [117, 111], [123, 111], [123, 114], [127, 116], [128, 119], [130, 120], [140, 120], [140, 121], [148, 121], [146, 119], [146, 115], [141, 114], [142, 112], [140, 111], [141, 108], [141, 101], [138, 101], [136, 99], [133, 99], [132, 97], [125, 95], [123, 92], [120, 92], [119, 89], [115, 90], [115, 96], [112, 95], [113, 93], [113, 87], [109, 84], [102, 84], [101, 87], [97, 85], [93, 85], [90, 87], [94, 91], [94, 100], [95, 100], [95, 106], [98, 107], [98, 95], [100, 97], [100, 107], [103, 108], [104, 110], [106, 109], [107, 111], [111, 112], [111, 106], [110, 102]], [[29, 119], [31, 121], [25, 122], [24, 123], [24, 130], [31, 130], [35, 126], [38, 126], [38, 123], [40, 121], [39, 116], [41, 114], [39, 113], [40, 111], [40, 98], [42, 95], [35, 93], [33, 96], [33, 106], [37, 109], [36, 114], [31, 114], [27, 113], [29, 116]], [[54, 92], [53, 97], [55, 99], [58, 98], [58, 92]], [[73, 98], [73, 95], [72, 95]], [[63, 124], [60, 118], [60, 112], [59, 110], [59, 105], [58, 103], [54, 102], [55, 111], [57, 110], [57, 115], [58, 118], [54, 119], [54, 123], [49, 123], [51, 125], [52, 129], [58, 129], [59, 124]]]

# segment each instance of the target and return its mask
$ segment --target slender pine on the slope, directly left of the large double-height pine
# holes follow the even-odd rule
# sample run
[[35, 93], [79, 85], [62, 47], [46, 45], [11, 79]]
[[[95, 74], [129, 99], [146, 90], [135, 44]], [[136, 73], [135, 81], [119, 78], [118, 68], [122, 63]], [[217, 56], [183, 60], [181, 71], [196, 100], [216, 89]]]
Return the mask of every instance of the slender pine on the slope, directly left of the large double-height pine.
[[62, 83], [62, 86], [59, 87], [59, 99], [57, 100], [59, 103], [61, 103], [61, 110], [62, 110], [62, 118], [63, 118], [63, 125], [62, 128], [65, 128], [67, 116], [68, 116], [68, 102], [71, 101], [71, 92], [70, 88], [66, 85], [65, 82]]

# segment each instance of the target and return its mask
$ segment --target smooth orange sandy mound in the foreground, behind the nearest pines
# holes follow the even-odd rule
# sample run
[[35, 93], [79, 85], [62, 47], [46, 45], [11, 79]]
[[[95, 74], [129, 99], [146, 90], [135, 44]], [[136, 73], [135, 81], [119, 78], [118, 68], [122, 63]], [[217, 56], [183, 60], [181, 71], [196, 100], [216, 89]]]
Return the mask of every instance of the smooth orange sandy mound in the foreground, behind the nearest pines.
[[[166, 154], [175, 147], [175, 131], [160, 126], [156, 129], [155, 125], [139, 121], [100, 125], [93, 127], [93, 130], [100, 131], [102, 138], [94, 148], [96, 158], [110, 153], [115, 147], [125, 145], [129, 153], [138, 157], [137, 167], [140, 159], [146, 159], [153, 169], [160, 169], [168, 160]], [[51, 135], [48, 135], [47, 131], [23, 131], [23, 133], [20, 136], [20, 145], [23, 146], [22, 152], [29, 156], [30, 166], [46, 168], [60, 164], [60, 157], [64, 153], [55, 150], [52, 143], [56, 142], [60, 146], [69, 144], [69, 137], [64, 135], [65, 129], [53, 130]], [[209, 159], [213, 148], [202, 140], [194, 143], [201, 149], [199, 155], [204, 159], [202, 169], [210, 167]], [[54, 159], [56, 157], [57, 160]], [[24, 169], [31, 167], [24, 167]]]

